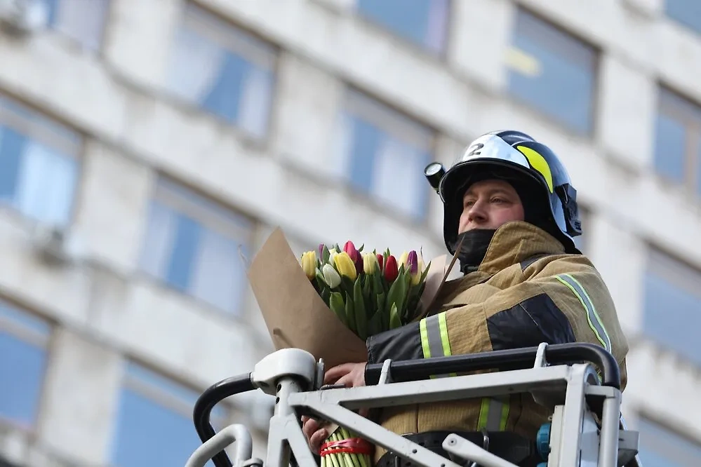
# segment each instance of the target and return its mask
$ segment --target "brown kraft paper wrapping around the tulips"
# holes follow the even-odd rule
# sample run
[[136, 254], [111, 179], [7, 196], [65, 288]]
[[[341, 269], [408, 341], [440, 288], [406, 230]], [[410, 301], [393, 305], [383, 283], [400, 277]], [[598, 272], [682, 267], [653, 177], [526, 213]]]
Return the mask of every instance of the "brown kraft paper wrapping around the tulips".
[[[422, 306], [432, 304], [445, 271], [445, 256], [432, 260]], [[367, 361], [365, 342], [316, 293], [279, 227], [253, 258], [248, 280], [276, 350], [301, 348], [317, 360], [323, 358], [326, 369]]]

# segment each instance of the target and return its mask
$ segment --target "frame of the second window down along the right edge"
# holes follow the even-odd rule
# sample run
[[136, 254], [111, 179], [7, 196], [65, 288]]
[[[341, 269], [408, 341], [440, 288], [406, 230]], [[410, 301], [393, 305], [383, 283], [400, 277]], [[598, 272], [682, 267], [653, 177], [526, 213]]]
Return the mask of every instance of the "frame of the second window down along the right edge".
[[[697, 111], [698, 115], [693, 116], [693, 111]], [[655, 172], [655, 176], [675, 186], [681, 185], [685, 191], [690, 192], [690, 194], [693, 194], [693, 196], [697, 198], [701, 198], [701, 104], [679, 93], [665, 83], [658, 83], [655, 125], [658, 119], [660, 119], [660, 116], [663, 115], [669, 119], [673, 119], [676, 123], [680, 123], [686, 133], [684, 152], [682, 154], [684, 162], [683, 168], [686, 177], [683, 180], [674, 180], [672, 177], [657, 170], [655, 163], [655, 154], [657, 153], [656, 132], [652, 161], [652, 168]], [[697, 148], [697, 151], [694, 151], [694, 147]]]

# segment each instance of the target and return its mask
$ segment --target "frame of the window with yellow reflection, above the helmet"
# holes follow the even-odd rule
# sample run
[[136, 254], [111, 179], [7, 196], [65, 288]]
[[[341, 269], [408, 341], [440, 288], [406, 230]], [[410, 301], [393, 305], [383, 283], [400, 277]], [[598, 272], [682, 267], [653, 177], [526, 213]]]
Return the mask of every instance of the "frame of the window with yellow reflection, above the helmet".
[[[540, 22], [542, 25], [545, 25], [547, 27], [546, 32], [555, 32], [555, 34], [561, 34], [563, 36], [568, 36], [570, 39], [573, 39], [574, 42], [579, 43], [583, 48], [587, 48], [592, 52], [592, 67], [591, 67], [591, 76], [592, 76], [592, 90], [591, 90], [591, 113], [589, 116], [587, 116], [587, 127], [585, 130], [580, 130], [579, 128], [573, 128], [572, 126], [569, 126], [567, 123], [563, 123], [561, 119], [559, 119], [558, 116], [554, 116], [552, 114], [549, 114], [549, 112], [542, 107], [538, 107], [531, 102], [528, 102], [522, 95], [519, 93], [515, 93], [512, 90], [512, 87], [509, 86], [509, 74], [512, 73], [512, 65], [510, 65], [510, 61], [513, 60], [513, 55], [517, 55], [520, 50], [516, 50], [514, 42], [516, 39], [519, 37], [516, 32], [517, 32], [517, 25], [519, 21], [519, 17], [521, 15], [526, 15], [526, 18], [530, 17], [537, 22]], [[542, 36], [541, 34], [542, 29], [539, 31], [539, 36]], [[559, 56], [563, 56], [559, 54]], [[514, 17], [512, 21], [512, 29], [511, 32], [509, 33], [509, 40], [507, 43], [507, 50], [505, 52], [505, 58], [504, 58], [504, 65], [506, 68], [506, 79], [507, 79], [507, 84], [505, 86], [506, 88], [506, 93], [509, 99], [511, 99], [513, 102], [516, 102], [519, 106], [523, 107], [524, 109], [528, 109], [530, 111], [535, 112], [541, 119], [544, 119], [548, 123], [556, 126], [559, 128], [559, 130], [564, 131], [570, 135], [574, 135], [575, 137], [579, 138], [587, 138], [589, 140], [595, 139], [596, 138], [596, 133], [598, 131], [597, 128], [597, 122], [599, 121], [599, 109], [601, 107], [601, 56], [602, 56], [602, 50], [601, 47], [590, 41], [589, 39], [585, 38], [581, 34], [578, 34], [577, 31], [573, 29], [569, 29], [568, 27], [564, 27], [563, 25], [559, 24], [558, 22], [552, 20], [551, 18], [547, 17], [547, 15], [543, 15], [542, 13], [538, 11], [533, 11], [530, 10], [529, 8], [526, 8], [525, 6], [522, 6], [520, 4], [516, 5], [515, 11], [514, 11]], [[578, 61], [578, 63], [582, 63], [581, 61]]]

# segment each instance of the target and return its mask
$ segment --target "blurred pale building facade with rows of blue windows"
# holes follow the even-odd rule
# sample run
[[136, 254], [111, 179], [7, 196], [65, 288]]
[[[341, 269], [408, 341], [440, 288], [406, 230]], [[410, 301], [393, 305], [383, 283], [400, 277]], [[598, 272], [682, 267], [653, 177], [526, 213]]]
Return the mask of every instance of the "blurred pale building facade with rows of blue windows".
[[[0, 459], [182, 465], [271, 350], [246, 261], [443, 254], [422, 177], [486, 131], [563, 158], [629, 337], [647, 466], [701, 456], [697, 0], [41, 0], [0, 36]], [[219, 423], [255, 428], [270, 401]]]

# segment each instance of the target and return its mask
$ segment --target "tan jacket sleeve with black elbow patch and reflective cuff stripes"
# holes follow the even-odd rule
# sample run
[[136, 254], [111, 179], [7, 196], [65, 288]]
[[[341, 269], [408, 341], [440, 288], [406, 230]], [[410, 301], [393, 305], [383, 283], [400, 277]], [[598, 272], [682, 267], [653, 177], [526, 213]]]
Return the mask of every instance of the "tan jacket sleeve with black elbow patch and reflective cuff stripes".
[[482, 302], [460, 302], [458, 295], [420, 323], [370, 337], [368, 362], [585, 341], [613, 353], [625, 384], [627, 344], [594, 266], [586, 257], [566, 256], [530, 269], [520, 283], [486, 293]]

